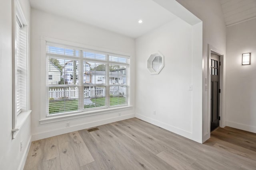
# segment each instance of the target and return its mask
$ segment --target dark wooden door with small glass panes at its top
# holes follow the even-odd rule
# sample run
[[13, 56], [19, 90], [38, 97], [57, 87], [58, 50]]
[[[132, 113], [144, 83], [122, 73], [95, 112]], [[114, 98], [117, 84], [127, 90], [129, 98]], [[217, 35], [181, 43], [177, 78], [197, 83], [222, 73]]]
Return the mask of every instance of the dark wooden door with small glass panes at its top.
[[211, 131], [220, 125], [220, 56], [211, 53]]

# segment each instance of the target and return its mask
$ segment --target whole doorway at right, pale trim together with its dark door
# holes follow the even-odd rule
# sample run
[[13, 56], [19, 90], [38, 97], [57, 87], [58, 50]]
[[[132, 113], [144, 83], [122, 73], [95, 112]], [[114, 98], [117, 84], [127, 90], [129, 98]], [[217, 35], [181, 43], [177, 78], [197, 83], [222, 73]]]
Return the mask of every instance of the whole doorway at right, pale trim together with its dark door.
[[208, 76], [206, 78], [206, 91], [208, 96], [207, 125], [208, 130], [204, 140], [210, 138], [210, 132], [217, 127], [225, 127], [223, 113], [223, 80], [224, 80], [224, 55], [219, 50], [208, 44]]

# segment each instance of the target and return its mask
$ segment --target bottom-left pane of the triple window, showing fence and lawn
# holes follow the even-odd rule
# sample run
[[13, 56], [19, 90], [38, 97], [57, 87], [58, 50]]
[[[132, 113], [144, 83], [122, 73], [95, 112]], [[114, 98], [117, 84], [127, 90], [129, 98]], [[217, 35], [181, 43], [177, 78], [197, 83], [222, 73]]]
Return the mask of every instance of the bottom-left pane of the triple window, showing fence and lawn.
[[48, 113], [78, 110], [78, 87], [50, 87]]

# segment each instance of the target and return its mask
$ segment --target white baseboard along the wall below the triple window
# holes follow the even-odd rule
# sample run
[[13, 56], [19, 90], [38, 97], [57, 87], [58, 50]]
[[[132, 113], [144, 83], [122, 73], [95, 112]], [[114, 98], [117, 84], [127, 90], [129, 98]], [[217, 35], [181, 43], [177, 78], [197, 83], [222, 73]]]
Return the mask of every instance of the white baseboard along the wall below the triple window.
[[55, 129], [55, 130], [47, 131], [47, 132], [43, 132], [43, 133], [38, 133], [38, 134], [32, 135], [32, 141], [37, 141], [37, 140], [40, 140], [40, 139], [45, 139], [45, 138], [53, 137], [53, 136], [56, 136], [56, 135], [62, 135], [62, 134], [65, 134], [65, 133], [79, 131], [79, 130], [82, 130], [82, 129], [88, 129], [90, 127], [100, 126], [100, 125], [112, 123], [112, 122], [115, 122], [115, 121], [130, 119], [130, 118], [133, 118], [133, 117], [135, 117], [135, 113], [128, 114], [128, 115], [122, 115], [122, 116], [118, 116], [118, 117], [111, 117], [111, 118], [108, 118], [108, 119], [102, 119], [102, 120], [99, 120], [99, 121], [88, 122], [88, 123], [84, 123], [84, 124], [80, 124], [80, 125], [74, 125], [74, 126], [70, 126], [70, 127], [64, 127], [64, 128], [61, 128], [61, 129]]

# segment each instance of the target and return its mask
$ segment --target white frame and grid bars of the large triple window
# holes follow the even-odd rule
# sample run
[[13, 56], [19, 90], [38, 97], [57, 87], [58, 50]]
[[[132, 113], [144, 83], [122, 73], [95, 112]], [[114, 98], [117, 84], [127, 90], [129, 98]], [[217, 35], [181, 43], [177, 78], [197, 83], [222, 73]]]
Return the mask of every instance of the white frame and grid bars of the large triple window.
[[[84, 73], [79, 74], [78, 77], [78, 84], [62, 84], [62, 85], [51, 85], [48, 84], [48, 80], [46, 80], [46, 96], [47, 96], [47, 106], [46, 106], [46, 115], [62, 115], [62, 114], [70, 114], [70, 113], [77, 113], [77, 112], [81, 112], [81, 111], [89, 111], [92, 109], [105, 109], [105, 108], [109, 108], [109, 107], [122, 107], [122, 106], [128, 106], [130, 104], [130, 95], [129, 95], [129, 91], [130, 91], [130, 57], [129, 56], [124, 56], [124, 55], [116, 55], [116, 54], [112, 54], [112, 53], [106, 53], [106, 52], [102, 52], [102, 51], [94, 51], [94, 50], [88, 50], [88, 49], [81, 49], [81, 48], [77, 48], [77, 47], [69, 47], [66, 45], [59, 45], [59, 44], [55, 44], [55, 43], [50, 43], [50, 42], [46, 42], [46, 47], [60, 47], [60, 48], [68, 48], [68, 49], [73, 49], [74, 52], [73, 54], [59, 54], [59, 53], [49, 53], [48, 49], [46, 48], [46, 61], [49, 60], [49, 58], [55, 58], [55, 59], [68, 59], [68, 60], [72, 60], [72, 61], [78, 61], [79, 65], [81, 65], [81, 63], [84, 62], [94, 62], [94, 63], [102, 63], [102, 64], [106, 64], [106, 75], [104, 76], [105, 79], [105, 84], [82, 84], [83, 81], [79, 81], [79, 80], [83, 80], [83, 76]], [[84, 53], [89, 52], [89, 53], [98, 53], [98, 54], [103, 54], [106, 56], [106, 58], [86, 58], [84, 57]], [[120, 59], [126, 59], [126, 61], [124, 62], [123, 60]], [[110, 106], [110, 88], [111, 87], [117, 87], [120, 86], [120, 84], [110, 84], [109, 82], [109, 66], [111, 64], [115, 64], [115, 65], [119, 65], [119, 66], [125, 66], [126, 67], [126, 103], [122, 104], [122, 105], [117, 105], [117, 106]], [[67, 68], [70, 69], [70, 68]], [[83, 72], [83, 67], [78, 68], [79, 72]], [[48, 70], [48, 69], [46, 69]], [[46, 74], [48, 74], [48, 72], [46, 72]], [[63, 78], [65, 81], [65, 75], [66, 73], [62, 73], [63, 74]], [[47, 76], [46, 76], [47, 77]], [[119, 78], [120, 80], [120, 78]], [[97, 80], [96, 80], [97, 81]], [[51, 87], [78, 87], [80, 89], [80, 94], [79, 94], [79, 102], [78, 102], [78, 110], [76, 111], [67, 111], [67, 112], [62, 112], [62, 113], [54, 113], [54, 114], [49, 114], [49, 88]], [[86, 108], [84, 109], [84, 103], [82, 102], [82, 100], [84, 99], [84, 94], [83, 94], [83, 88], [84, 87], [105, 87], [105, 95], [106, 95], [106, 105], [103, 107], [95, 107], [95, 108]]]

